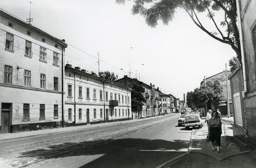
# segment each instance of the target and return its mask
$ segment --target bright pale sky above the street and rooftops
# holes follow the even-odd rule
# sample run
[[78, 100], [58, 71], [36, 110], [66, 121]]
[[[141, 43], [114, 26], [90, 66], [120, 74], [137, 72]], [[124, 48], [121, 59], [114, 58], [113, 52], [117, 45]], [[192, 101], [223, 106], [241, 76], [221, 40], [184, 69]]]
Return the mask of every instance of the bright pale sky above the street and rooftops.
[[[26, 20], [30, 1], [1, 0], [0, 8]], [[225, 63], [230, 69], [228, 60], [236, 53], [200, 30], [184, 10], [178, 9], [168, 25], [159, 21], [151, 28], [131, 8], [129, 1], [31, 0], [31, 24], [66, 40], [66, 64], [98, 73], [99, 55], [100, 71], [114, 72], [120, 79], [131, 70], [132, 78], [181, 100], [183, 93], [200, 87], [204, 76], [222, 72]], [[216, 15], [217, 20], [222, 17]], [[199, 18], [215, 30], [208, 18]]]

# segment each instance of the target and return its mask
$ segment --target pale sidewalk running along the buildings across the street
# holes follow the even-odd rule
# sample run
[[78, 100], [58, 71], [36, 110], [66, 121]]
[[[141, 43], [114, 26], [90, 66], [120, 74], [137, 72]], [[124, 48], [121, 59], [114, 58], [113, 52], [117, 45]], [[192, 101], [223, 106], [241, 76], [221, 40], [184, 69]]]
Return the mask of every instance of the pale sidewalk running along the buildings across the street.
[[[156, 117], [164, 117], [164, 116], [156, 116]], [[109, 125], [118, 125], [118, 124], [128, 123], [128, 122], [138, 122], [140, 120], [148, 120], [156, 117], [133, 119], [133, 120], [130, 119], [129, 121], [127, 120], [127, 121], [117, 121], [117, 122], [106, 122], [106, 123], [83, 125], [83, 126], [76, 126], [76, 127], [71, 126], [71, 127], [64, 127], [64, 128], [60, 127], [60, 128], [36, 130], [36, 131], [23, 131], [19, 133], [6, 133], [6, 134], [0, 134], [0, 141], [14, 140], [19, 138], [34, 137], [38, 135], [55, 134], [55, 133], [82, 130], [82, 129], [90, 129], [95, 127], [105, 127]]]

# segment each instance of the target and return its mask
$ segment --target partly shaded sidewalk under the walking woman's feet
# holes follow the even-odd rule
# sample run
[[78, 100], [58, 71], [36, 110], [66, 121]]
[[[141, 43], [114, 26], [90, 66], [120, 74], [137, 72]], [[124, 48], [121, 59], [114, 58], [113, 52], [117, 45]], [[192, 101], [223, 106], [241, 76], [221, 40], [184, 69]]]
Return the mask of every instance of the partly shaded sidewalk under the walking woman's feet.
[[211, 142], [206, 142], [208, 127], [204, 125], [202, 129], [192, 130], [189, 151], [186, 155], [177, 157], [162, 167], [255, 167], [256, 150], [248, 148], [233, 137], [233, 129], [229, 121], [233, 121], [233, 117], [222, 118], [220, 153], [217, 152], [217, 148], [216, 151], [212, 151]]

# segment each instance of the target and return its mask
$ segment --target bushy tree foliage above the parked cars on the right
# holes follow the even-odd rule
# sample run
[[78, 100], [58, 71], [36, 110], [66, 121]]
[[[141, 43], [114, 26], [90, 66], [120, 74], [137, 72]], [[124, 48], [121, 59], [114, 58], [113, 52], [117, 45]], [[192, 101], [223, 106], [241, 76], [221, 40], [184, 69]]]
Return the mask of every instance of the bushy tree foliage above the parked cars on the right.
[[206, 87], [196, 88], [187, 93], [187, 105], [192, 109], [202, 108], [206, 102], [218, 105], [223, 100], [223, 87], [218, 80], [207, 81]]

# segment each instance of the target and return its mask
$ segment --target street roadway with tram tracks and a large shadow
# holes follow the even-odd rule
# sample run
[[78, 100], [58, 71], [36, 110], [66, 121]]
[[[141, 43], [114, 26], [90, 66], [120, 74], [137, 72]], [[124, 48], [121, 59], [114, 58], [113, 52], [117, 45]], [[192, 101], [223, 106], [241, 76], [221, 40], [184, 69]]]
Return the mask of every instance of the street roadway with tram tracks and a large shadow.
[[157, 167], [188, 151], [178, 115], [3, 141], [1, 167]]

